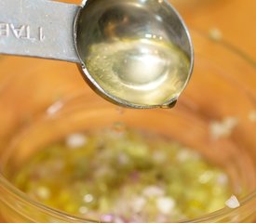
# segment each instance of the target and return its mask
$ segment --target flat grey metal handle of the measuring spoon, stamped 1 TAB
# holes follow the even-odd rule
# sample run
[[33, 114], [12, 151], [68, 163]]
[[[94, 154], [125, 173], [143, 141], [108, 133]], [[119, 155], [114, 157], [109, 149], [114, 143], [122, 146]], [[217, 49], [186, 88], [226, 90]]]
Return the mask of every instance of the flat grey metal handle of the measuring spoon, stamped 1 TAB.
[[0, 54], [79, 62], [74, 46], [77, 5], [0, 0]]

